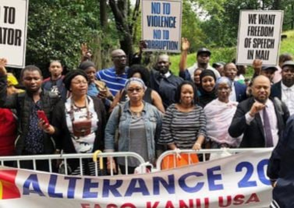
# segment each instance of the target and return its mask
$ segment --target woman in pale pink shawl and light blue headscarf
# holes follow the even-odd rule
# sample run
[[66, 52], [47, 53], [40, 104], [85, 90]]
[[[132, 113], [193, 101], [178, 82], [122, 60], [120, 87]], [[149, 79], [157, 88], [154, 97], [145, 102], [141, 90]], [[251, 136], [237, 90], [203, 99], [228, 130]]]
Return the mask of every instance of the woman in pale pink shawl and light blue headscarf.
[[230, 101], [232, 82], [227, 77], [220, 77], [216, 83], [218, 98], [208, 103], [204, 108], [207, 119], [207, 138], [211, 148], [238, 147], [242, 136], [230, 137], [228, 128], [231, 124], [238, 102]]

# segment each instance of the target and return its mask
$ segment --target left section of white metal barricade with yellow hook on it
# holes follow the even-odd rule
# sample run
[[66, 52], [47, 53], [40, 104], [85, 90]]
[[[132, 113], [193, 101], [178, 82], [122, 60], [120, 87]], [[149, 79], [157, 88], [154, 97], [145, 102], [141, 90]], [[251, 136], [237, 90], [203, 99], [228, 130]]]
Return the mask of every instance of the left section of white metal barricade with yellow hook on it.
[[[56, 164], [58, 161], [58, 164], [61, 164], [63, 162], [64, 165], [64, 174], [69, 175], [69, 168], [68, 168], [68, 160], [76, 159], [79, 162], [80, 167], [80, 174], [83, 174], [83, 159], [92, 159], [95, 165], [95, 176], [99, 175], [99, 170], [103, 169], [106, 170], [105, 167], [105, 160], [103, 158], [109, 158], [110, 159], [110, 175], [113, 175], [113, 158], [118, 157], [124, 157], [125, 158], [125, 167], [126, 167], [126, 174], [128, 174], [128, 157], [134, 157], [138, 160], [138, 162], [141, 164], [140, 167], [142, 168], [142, 172], [145, 171], [144, 165], [146, 164], [143, 157], [135, 152], [101, 152], [100, 150], [97, 150], [94, 153], [83, 153], [83, 154], [54, 154], [54, 155], [21, 155], [21, 156], [3, 156], [0, 157], [0, 165], [5, 166], [6, 162], [13, 162], [13, 167], [16, 168], [22, 168], [21, 163], [24, 161], [31, 161], [32, 162], [32, 170], [37, 170], [37, 161], [48, 161], [48, 170], [46, 172], [54, 172], [53, 165]], [[98, 160], [99, 161], [98, 161]], [[99, 166], [99, 168], [98, 168]]]

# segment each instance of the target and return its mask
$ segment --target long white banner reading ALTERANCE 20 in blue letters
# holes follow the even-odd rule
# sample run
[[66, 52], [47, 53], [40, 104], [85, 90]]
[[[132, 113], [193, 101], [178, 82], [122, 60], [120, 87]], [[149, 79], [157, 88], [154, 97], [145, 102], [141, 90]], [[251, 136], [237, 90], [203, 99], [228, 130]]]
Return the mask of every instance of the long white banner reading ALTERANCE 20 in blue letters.
[[0, 169], [1, 208], [268, 207], [270, 150], [139, 175], [65, 176]]

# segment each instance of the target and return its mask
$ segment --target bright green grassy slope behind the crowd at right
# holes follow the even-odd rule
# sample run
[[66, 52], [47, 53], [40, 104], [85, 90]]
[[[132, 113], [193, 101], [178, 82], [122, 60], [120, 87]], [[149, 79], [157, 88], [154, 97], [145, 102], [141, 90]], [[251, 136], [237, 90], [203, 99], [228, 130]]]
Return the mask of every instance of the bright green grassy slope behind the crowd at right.
[[[288, 37], [281, 41], [280, 53], [290, 53], [294, 55], [294, 30], [285, 31], [283, 32], [283, 34], [287, 35]], [[229, 62], [235, 57], [236, 48], [212, 48], [211, 53], [211, 64], [218, 61]], [[173, 71], [174, 74], [178, 75], [180, 55], [170, 56], [170, 58], [172, 63], [171, 71]], [[189, 54], [187, 59], [187, 66], [192, 66], [195, 61], [196, 53]], [[251, 73], [252, 71], [248, 70], [248, 75]]]

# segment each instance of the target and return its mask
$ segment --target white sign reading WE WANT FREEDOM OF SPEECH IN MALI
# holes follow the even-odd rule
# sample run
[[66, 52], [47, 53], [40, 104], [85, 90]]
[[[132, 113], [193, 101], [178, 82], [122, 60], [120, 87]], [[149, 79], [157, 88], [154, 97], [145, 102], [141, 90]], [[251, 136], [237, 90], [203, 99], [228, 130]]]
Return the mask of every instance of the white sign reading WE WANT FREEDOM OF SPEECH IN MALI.
[[283, 11], [241, 10], [237, 60], [239, 65], [252, 65], [261, 59], [263, 65], [278, 65]]

